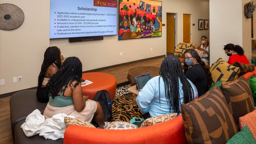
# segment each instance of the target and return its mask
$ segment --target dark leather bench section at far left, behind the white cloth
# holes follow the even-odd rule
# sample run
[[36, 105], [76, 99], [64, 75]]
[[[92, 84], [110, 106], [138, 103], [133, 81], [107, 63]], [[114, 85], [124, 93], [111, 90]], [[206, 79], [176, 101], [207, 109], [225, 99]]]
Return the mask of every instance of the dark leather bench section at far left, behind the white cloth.
[[47, 103], [41, 103], [37, 100], [36, 89], [22, 90], [13, 94], [10, 98], [10, 118], [12, 136], [14, 140], [15, 125], [25, 120], [26, 117], [35, 109], [38, 109], [42, 114]]

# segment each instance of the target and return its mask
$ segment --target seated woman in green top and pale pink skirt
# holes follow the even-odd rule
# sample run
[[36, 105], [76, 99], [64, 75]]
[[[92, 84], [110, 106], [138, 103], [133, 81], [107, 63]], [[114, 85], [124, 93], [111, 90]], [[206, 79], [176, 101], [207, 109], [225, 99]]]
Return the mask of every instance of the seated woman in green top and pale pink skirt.
[[104, 125], [104, 115], [99, 102], [89, 100], [82, 94], [82, 63], [77, 57], [68, 57], [54, 74], [46, 87], [49, 90], [49, 102], [44, 110], [44, 117], [64, 113], [76, 119]]

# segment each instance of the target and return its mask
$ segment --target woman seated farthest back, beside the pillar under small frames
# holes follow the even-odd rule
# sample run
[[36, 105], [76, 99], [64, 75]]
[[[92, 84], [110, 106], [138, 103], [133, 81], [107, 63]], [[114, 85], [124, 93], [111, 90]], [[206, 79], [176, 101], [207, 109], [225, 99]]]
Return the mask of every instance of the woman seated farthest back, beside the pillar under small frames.
[[209, 44], [208, 38], [206, 36], [202, 36], [200, 45], [195, 48], [197, 48], [200, 51], [204, 51], [204, 54], [201, 60], [209, 64], [210, 63], [210, 52], [209, 52], [210, 44]]

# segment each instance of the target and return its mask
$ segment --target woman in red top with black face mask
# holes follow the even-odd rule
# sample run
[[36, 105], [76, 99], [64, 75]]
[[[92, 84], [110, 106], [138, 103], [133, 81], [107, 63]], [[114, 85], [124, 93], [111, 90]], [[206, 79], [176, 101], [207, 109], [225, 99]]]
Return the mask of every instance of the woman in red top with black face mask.
[[229, 56], [228, 63], [233, 64], [234, 62], [240, 62], [243, 64], [248, 64], [249, 61], [244, 55], [244, 49], [239, 45], [227, 44], [224, 47], [225, 54]]

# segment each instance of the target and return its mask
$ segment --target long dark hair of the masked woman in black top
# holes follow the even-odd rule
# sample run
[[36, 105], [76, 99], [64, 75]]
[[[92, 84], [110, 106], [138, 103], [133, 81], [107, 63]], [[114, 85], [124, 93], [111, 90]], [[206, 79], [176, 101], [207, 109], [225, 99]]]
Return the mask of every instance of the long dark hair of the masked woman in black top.
[[[197, 62], [203, 67], [204, 72], [206, 73], [206, 76], [207, 76], [208, 89], [209, 89], [211, 87], [211, 85], [212, 85], [212, 74], [210, 73], [209, 68], [205, 65], [205, 62], [201, 60], [201, 57], [198, 55], [198, 53], [194, 49], [186, 50], [184, 52], [184, 56], [185, 56], [185, 53], [190, 53], [192, 55], [192, 57], [194, 57], [197, 60]], [[184, 73], [187, 72], [188, 67], [189, 66], [186, 63], [184, 63]]]

